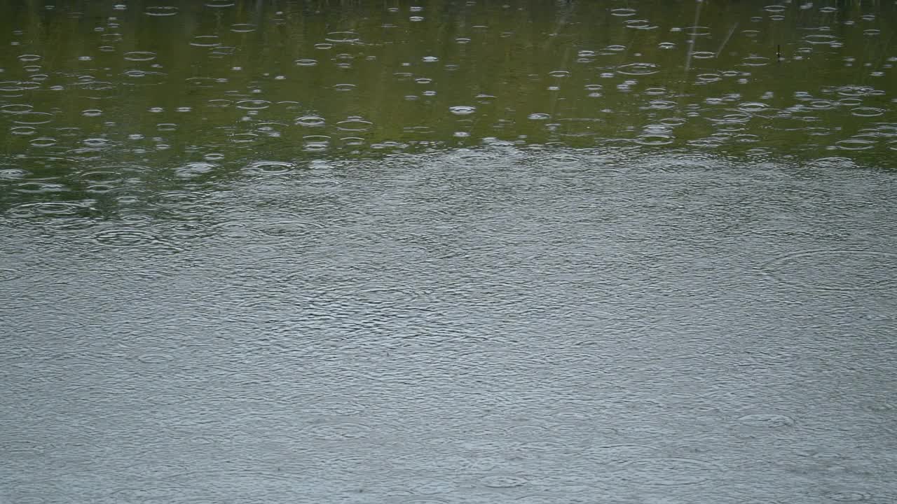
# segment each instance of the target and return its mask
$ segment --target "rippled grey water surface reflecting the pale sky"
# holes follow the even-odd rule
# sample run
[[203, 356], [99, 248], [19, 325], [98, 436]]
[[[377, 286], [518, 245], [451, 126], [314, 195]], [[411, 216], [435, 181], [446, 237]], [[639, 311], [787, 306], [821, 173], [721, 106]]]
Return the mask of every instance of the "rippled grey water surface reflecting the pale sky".
[[894, 196], [492, 143], [6, 220], [2, 501], [894, 502]]

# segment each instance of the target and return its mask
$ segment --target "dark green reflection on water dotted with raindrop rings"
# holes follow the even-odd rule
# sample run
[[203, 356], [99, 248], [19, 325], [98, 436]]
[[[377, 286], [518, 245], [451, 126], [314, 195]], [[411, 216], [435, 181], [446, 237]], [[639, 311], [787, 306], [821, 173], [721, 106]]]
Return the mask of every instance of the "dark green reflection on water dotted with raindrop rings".
[[13, 2], [0, 204], [491, 139], [888, 166], [894, 27], [895, 2]]

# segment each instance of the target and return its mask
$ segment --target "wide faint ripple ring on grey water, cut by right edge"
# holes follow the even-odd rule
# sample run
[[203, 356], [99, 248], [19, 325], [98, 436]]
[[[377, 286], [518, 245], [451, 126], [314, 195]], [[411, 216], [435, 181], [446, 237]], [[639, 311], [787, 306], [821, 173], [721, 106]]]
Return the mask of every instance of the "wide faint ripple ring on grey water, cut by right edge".
[[867, 250], [809, 250], [773, 259], [779, 282], [817, 291], [884, 291], [897, 283], [897, 255]]

